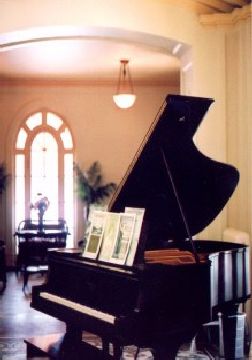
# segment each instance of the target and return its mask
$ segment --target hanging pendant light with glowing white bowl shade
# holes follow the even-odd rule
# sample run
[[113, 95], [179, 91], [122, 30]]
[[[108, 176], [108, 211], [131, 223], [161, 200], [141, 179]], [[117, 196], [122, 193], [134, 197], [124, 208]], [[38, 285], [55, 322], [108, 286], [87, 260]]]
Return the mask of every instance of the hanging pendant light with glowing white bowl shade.
[[133, 85], [129, 71], [129, 60], [120, 60], [120, 72], [117, 83], [116, 95], [113, 95], [115, 104], [121, 109], [128, 109], [134, 105], [136, 95], [133, 92]]

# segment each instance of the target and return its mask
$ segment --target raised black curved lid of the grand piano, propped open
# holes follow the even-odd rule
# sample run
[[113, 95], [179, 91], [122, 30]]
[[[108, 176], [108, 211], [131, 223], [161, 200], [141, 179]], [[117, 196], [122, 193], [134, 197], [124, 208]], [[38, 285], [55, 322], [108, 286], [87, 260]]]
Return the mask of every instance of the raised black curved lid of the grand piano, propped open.
[[203, 155], [193, 142], [212, 102], [168, 95], [110, 202], [110, 211], [145, 208], [146, 248], [202, 231], [238, 184], [237, 169]]

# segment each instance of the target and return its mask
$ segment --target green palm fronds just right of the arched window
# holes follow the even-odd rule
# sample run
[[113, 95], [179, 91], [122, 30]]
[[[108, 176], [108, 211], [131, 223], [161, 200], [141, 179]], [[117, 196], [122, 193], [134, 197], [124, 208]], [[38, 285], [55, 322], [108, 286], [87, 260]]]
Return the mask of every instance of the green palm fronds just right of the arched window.
[[74, 171], [77, 175], [77, 191], [80, 199], [87, 204], [101, 204], [115, 189], [113, 182], [103, 184], [102, 167], [95, 161], [86, 172], [74, 163]]

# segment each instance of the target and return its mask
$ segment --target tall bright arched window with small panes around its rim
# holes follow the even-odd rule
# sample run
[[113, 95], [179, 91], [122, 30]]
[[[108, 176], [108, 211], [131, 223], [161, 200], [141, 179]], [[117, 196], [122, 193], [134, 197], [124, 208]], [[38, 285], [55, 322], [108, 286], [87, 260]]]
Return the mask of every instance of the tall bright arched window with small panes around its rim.
[[[73, 141], [69, 128], [56, 114], [30, 115], [19, 128], [15, 143], [15, 227], [36, 219], [32, 209], [38, 194], [50, 205], [44, 219], [67, 221], [73, 233]], [[73, 246], [71, 237], [68, 246]]]

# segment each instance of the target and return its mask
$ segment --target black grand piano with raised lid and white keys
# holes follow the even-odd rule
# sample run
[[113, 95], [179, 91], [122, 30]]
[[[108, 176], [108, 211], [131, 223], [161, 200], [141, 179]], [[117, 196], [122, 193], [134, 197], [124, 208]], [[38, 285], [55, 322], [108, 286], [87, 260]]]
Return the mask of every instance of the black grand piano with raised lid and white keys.
[[33, 287], [31, 306], [66, 323], [60, 358], [78, 358], [86, 330], [102, 338], [98, 358], [120, 359], [134, 344], [151, 347], [154, 359], [174, 359], [202, 324], [235, 314], [249, 298], [248, 247], [193, 240], [239, 181], [233, 166], [193, 142], [212, 102], [168, 95], [111, 200], [112, 212], [145, 208], [133, 266], [87, 259], [78, 249], [50, 252], [48, 281]]

